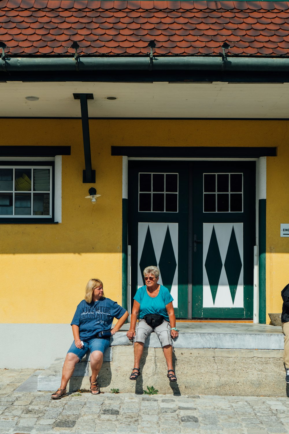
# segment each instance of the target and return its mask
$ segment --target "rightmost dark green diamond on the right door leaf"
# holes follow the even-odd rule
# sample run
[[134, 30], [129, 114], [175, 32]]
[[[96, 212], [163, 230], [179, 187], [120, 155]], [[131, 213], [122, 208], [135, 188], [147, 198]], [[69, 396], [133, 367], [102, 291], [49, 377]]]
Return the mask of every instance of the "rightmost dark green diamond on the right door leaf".
[[242, 269], [242, 261], [240, 258], [239, 248], [236, 240], [234, 226], [232, 228], [231, 238], [227, 250], [227, 255], [224, 263], [227, 274], [227, 279], [230, 287], [232, 301], [234, 303], [237, 285], [239, 282], [240, 272]]

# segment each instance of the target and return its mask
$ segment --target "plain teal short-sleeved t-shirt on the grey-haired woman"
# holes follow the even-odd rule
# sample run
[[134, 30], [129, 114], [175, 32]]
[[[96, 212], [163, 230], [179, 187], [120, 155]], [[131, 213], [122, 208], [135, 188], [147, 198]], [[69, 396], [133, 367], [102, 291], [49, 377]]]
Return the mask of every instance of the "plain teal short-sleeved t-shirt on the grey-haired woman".
[[156, 297], [150, 297], [146, 291], [146, 285], [141, 286], [133, 297], [140, 303], [140, 318], [148, 313], [157, 313], [169, 321], [169, 315], [166, 311], [166, 305], [173, 301], [169, 289], [160, 285], [159, 293]]

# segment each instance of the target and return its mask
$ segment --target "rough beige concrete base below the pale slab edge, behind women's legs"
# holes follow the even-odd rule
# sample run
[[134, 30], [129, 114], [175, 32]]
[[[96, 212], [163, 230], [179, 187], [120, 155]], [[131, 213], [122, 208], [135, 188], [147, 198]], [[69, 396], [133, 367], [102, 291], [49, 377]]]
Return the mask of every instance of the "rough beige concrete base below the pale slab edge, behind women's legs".
[[[175, 349], [173, 360], [178, 377], [175, 383], [170, 383], [166, 376], [162, 349], [144, 349], [141, 375], [136, 381], [129, 379], [133, 368], [133, 348], [118, 345], [111, 351], [111, 362], [103, 363], [98, 376], [104, 392], [119, 388], [121, 392], [143, 393], [147, 385], [153, 385], [159, 393], [286, 396], [282, 350]], [[55, 360], [39, 375], [38, 390], [54, 391], [59, 387], [62, 363], [63, 359]], [[78, 369], [68, 384], [70, 392], [90, 386], [89, 362], [81, 362]]]

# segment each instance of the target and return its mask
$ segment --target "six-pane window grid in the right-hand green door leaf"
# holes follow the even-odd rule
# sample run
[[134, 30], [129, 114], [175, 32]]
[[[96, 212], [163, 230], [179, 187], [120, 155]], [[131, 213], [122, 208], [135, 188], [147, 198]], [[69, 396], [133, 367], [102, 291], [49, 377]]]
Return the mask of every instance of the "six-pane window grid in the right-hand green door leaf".
[[243, 212], [243, 173], [203, 174], [204, 213]]

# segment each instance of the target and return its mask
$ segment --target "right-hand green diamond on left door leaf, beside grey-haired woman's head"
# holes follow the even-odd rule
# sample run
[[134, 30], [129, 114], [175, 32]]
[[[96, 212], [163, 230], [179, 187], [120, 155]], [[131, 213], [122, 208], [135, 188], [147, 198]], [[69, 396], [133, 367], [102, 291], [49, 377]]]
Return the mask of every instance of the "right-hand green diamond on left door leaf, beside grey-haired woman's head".
[[161, 257], [159, 258], [159, 271], [162, 276], [162, 284], [171, 291], [172, 282], [175, 276], [175, 269], [177, 263], [175, 261], [175, 253], [172, 247], [171, 234], [169, 233], [169, 226], [166, 230], [165, 241], [162, 246]]

